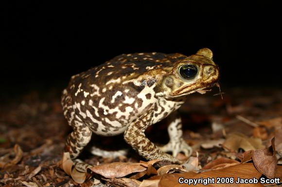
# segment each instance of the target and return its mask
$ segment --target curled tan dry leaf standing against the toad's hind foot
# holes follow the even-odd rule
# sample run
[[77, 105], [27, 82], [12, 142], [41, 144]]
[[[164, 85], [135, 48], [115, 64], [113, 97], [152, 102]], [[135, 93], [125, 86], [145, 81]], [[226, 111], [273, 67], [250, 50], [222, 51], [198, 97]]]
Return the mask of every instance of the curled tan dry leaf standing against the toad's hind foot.
[[76, 170], [69, 152], [64, 153], [63, 159], [57, 165], [64, 170], [76, 183], [84, 183], [87, 173]]

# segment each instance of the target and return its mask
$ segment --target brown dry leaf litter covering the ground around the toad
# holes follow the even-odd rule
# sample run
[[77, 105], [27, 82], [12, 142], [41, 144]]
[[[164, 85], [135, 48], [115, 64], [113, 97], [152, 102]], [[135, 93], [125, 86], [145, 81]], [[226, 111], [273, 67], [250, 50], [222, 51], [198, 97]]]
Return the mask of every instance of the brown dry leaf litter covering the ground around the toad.
[[[116, 158], [92, 156], [84, 151], [80, 159], [71, 160], [68, 153], [63, 155], [64, 141], [71, 129], [62, 115], [59, 94], [53, 91], [23, 95], [0, 109], [0, 129], [5, 131], [0, 134], [0, 185], [180, 187], [183, 184], [179, 184], [179, 177], [194, 180], [210, 177], [215, 182], [217, 177], [232, 177], [235, 181], [238, 177], [264, 177], [281, 181], [282, 91], [272, 92], [261, 90], [260, 94], [252, 94], [243, 89], [227, 90], [223, 100], [209, 93], [200, 95], [204, 92], [189, 96], [180, 112], [184, 139], [193, 146], [194, 152], [189, 159], [181, 153], [177, 155], [187, 160], [182, 165], [141, 161], [143, 158], [132, 150], [127, 156]], [[168, 141], [162, 138], [167, 136], [164, 122], [148, 129], [147, 134], [154, 142]], [[122, 143], [117, 139], [103, 142], [109, 147]], [[159, 141], [159, 144], [165, 143]]]

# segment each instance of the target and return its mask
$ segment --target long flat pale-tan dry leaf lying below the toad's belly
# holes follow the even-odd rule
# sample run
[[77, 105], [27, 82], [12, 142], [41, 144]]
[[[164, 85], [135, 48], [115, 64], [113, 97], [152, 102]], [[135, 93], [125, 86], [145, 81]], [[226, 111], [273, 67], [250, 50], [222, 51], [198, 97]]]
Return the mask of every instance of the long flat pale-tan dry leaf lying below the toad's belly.
[[143, 163], [113, 162], [88, 168], [106, 178], [120, 178], [131, 173], [146, 171]]

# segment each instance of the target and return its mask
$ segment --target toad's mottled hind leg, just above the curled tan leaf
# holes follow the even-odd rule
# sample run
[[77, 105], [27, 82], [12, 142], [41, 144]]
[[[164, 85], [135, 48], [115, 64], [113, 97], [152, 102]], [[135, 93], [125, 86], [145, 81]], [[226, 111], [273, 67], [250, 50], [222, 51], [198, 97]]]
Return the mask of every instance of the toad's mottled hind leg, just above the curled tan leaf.
[[89, 127], [82, 121], [79, 121], [78, 117], [76, 117], [76, 119], [71, 121], [73, 132], [69, 134], [65, 147], [65, 151], [70, 152], [72, 159], [76, 158], [81, 153], [82, 149], [91, 140], [92, 135], [92, 131]]

